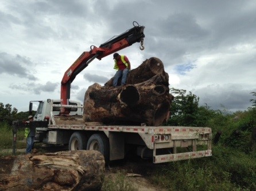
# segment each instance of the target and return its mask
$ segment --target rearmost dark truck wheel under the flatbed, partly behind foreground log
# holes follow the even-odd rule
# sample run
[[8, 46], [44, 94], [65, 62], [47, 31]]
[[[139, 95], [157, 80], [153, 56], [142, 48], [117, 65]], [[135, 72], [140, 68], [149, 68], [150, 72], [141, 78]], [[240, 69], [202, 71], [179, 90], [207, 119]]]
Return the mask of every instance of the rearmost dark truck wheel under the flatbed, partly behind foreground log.
[[87, 143], [86, 150], [98, 150], [103, 154], [105, 163], [109, 161], [109, 142], [108, 138], [103, 134], [92, 134]]

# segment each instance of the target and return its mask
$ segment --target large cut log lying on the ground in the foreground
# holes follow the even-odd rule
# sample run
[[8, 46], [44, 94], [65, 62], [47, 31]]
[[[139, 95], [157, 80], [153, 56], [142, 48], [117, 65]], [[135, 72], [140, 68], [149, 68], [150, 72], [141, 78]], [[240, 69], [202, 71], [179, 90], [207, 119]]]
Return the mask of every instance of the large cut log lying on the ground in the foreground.
[[104, 157], [95, 150], [1, 158], [0, 190], [100, 190]]

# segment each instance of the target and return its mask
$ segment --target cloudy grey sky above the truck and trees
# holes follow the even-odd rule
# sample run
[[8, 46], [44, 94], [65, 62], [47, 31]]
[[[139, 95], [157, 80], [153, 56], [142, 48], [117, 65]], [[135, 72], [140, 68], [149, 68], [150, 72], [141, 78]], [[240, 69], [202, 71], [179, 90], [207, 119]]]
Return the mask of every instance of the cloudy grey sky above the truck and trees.
[[[139, 43], [118, 51], [131, 69], [160, 58], [169, 87], [200, 105], [247, 110], [256, 91], [256, 1], [0, 1], [0, 102], [26, 112], [31, 100], [60, 98], [65, 71], [90, 46], [145, 26]], [[95, 59], [72, 82], [71, 100], [115, 74], [113, 55]]]

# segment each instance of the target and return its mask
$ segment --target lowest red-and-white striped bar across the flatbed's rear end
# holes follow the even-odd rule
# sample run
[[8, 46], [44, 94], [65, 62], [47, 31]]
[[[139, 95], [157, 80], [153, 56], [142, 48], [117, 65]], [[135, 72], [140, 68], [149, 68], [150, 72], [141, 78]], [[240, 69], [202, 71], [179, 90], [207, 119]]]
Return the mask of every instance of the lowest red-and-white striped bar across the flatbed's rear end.
[[177, 153], [177, 154], [164, 154], [153, 157], [154, 163], [188, 160], [190, 158], [210, 157], [212, 150], [200, 150], [197, 152]]

